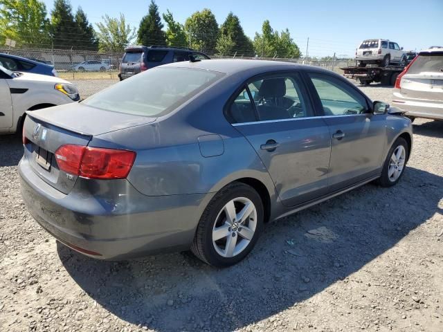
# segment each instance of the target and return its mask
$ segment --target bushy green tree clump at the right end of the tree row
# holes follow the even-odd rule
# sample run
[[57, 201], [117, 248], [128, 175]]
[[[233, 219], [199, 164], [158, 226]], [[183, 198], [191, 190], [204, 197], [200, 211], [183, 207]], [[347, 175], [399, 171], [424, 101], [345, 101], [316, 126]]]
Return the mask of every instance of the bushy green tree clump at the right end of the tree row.
[[260, 57], [300, 57], [300, 49], [293, 42], [289, 30], [281, 34], [271, 28], [268, 20], [263, 22], [262, 33], [255, 33], [253, 41], [255, 53]]

